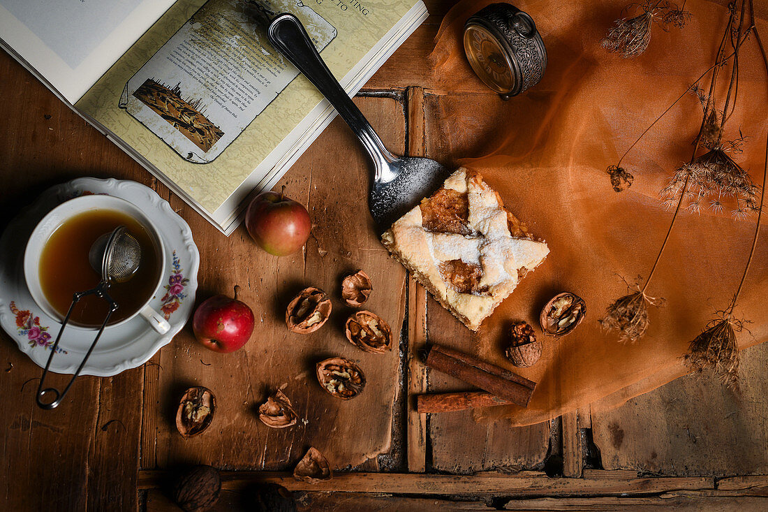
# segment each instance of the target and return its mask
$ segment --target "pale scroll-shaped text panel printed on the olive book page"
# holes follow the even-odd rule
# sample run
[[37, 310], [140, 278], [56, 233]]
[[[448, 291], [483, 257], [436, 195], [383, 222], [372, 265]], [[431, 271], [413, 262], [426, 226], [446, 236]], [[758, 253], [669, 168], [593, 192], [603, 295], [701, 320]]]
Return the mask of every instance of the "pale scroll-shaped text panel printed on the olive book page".
[[273, 12], [300, 18], [318, 51], [337, 35], [300, 0], [209, 0], [127, 81], [119, 106], [181, 158], [214, 161], [299, 75], [267, 41], [259, 20]]

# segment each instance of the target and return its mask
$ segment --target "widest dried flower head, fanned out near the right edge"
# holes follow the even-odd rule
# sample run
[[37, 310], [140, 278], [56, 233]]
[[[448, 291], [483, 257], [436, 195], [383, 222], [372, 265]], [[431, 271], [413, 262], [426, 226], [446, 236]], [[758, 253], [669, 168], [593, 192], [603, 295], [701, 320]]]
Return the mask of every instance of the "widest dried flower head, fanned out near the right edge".
[[740, 151], [742, 140], [717, 145], [692, 163], [677, 168], [669, 184], [660, 191], [664, 204], [674, 207], [680, 194], [685, 194], [683, 200], [688, 201], [686, 208], [690, 211], [700, 211], [703, 206], [723, 211], [723, 200], [727, 198], [736, 202], [732, 211], [734, 218], [746, 218], [753, 211], [759, 211], [760, 187], [727, 154], [727, 151]]

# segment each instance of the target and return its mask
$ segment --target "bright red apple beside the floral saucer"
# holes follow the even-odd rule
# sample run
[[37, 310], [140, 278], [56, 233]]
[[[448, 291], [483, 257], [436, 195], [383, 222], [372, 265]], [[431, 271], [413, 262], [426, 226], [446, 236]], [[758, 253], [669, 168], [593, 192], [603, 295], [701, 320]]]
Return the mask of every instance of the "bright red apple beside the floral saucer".
[[248, 304], [227, 295], [215, 295], [197, 306], [192, 318], [192, 331], [197, 341], [214, 352], [236, 351], [253, 334], [253, 311]]

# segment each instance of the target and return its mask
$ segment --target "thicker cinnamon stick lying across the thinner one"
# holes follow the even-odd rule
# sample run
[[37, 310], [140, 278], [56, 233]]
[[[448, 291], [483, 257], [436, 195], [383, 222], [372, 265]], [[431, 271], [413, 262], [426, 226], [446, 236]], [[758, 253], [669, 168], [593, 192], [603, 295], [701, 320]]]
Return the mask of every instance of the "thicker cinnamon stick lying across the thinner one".
[[505, 368], [441, 345], [432, 345], [425, 364], [522, 407], [528, 406], [536, 387], [534, 381]]

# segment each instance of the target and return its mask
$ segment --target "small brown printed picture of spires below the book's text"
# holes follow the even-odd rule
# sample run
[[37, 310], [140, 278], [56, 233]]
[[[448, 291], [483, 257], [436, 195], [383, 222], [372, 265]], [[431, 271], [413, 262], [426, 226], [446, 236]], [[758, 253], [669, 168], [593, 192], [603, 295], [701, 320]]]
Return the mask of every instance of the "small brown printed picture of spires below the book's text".
[[224, 132], [205, 117], [202, 100], [185, 100], [181, 97], [181, 84], [170, 88], [152, 78], [134, 91], [134, 98], [147, 105], [171, 126], [190, 139], [198, 148], [208, 151]]

